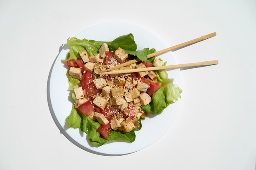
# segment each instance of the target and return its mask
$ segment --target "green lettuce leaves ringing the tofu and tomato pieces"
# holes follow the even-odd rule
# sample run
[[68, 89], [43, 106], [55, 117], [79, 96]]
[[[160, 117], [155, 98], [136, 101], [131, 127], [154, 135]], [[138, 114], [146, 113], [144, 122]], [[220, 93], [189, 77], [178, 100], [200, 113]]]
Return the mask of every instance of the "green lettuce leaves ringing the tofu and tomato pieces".
[[[81, 59], [79, 55], [79, 51], [86, 49], [89, 55], [94, 55], [95, 53], [99, 53], [99, 48], [103, 43], [108, 44], [110, 51], [115, 51], [119, 47], [124, 49], [128, 54], [133, 55], [135, 58], [139, 58], [141, 61], [149, 61], [153, 62], [154, 57], [147, 58], [147, 55], [150, 53], [156, 52], [155, 49], [145, 48], [143, 50], [137, 50], [137, 44], [134, 41], [133, 35], [130, 33], [128, 35], [123, 35], [111, 42], [103, 42], [103, 41], [95, 41], [95, 40], [87, 40], [87, 39], [78, 39], [76, 37], [69, 38], [67, 40], [67, 45], [70, 46], [70, 52], [67, 54], [66, 60], [77, 60]], [[164, 62], [166, 65], [166, 62]], [[173, 79], [168, 78], [168, 73], [166, 70], [156, 71], [158, 78], [157, 82], [161, 82], [161, 88], [152, 95], [152, 102], [146, 106], [142, 106], [143, 110], [148, 114], [159, 115], [163, 112], [163, 110], [169, 106], [170, 104], [175, 103], [178, 98], [181, 98], [180, 94], [182, 93], [182, 89], [173, 83]], [[74, 88], [78, 88], [81, 82], [80, 79], [76, 79], [70, 76], [69, 71], [67, 71], [69, 88], [68, 91], [71, 92], [72, 98], [74, 101], [76, 97], [74, 95]], [[171, 114], [171, 113], [166, 113]], [[130, 132], [120, 132], [120, 131], [112, 131], [108, 140], [101, 137], [100, 133], [97, 132], [97, 129], [101, 126], [99, 122], [90, 119], [90, 117], [80, 114], [78, 109], [72, 107], [70, 115], [66, 118], [67, 123], [70, 128], [80, 128], [83, 132], [85, 132], [90, 140], [90, 143], [93, 146], [101, 146], [106, 142], [110, 141], [135, 141], [135, 130], [140, 130], [142, 125], [140, 121], [140, 127], [137, 129], [133, 129]]]

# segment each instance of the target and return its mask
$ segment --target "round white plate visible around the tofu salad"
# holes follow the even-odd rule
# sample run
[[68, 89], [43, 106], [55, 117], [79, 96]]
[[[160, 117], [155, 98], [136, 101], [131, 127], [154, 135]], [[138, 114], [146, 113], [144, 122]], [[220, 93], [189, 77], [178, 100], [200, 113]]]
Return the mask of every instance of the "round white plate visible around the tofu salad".
[[[155, 48], [159, 51], [169, 47], [166, 46], [166, 44], [164, 44], [154, 33], [151, 33], [140, 26], [125, 22], [98, 24], [85, 29], [76, 35], [76, 37], [79, 39], [86, 38], [88, 40], [112, 41], [115, 38], [128, 33], [134, 35], [137, 50], [142, 50], [148, 47], [150, 49]], [[67, 124], [65, 124], [65, 119], [70, 115], [72, 109], [72, 102], [70, 102], [72, 99], [70, 99], [70, 94], [67, 91], [67, 68], [64, 67], [61, 60], [66, 58], [68, 52], [68, 46], [65, 45], [52, 65], [47, 82], [47, 99], [49, 109], [56, 125], [61, 133], [76, 146], [99, 155], [125, 155], [153, 144], [162, 137], [173, 124], [180, 109], [180, 99], [168, 106], [162, 114], [157, 116], [148, 115], [148, 117], [142, 121], [141, 130], [135, 131], [136, 139], [133, 143], [113, 142], [100, 147], [92, 146], [85, 133], [81, 132], [79, 129], [68, 128]], [[164, 53], [159, 57], [161, 57], [162, 60], [167, 61], [168, 65], [177, 64], [172, 52]], [[170, 78], [174, 78], [174, 82], [182, 88], [180, 69], [168, 71], [168, 75]]]

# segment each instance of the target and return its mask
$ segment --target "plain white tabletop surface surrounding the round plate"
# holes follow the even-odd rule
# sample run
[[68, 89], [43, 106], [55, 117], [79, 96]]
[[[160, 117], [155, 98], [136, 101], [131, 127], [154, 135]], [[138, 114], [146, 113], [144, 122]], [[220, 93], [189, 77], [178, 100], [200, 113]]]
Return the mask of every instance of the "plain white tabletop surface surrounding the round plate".
[[[86, 152], [60, 134], [47, 104], [47, 78], [67, 38], [102, 22], [144, 26], [173, 46], [182, 106], [154, 144], [123, 156]], [[0, 169], [255, 170], [255, 0], [1, 0]]]

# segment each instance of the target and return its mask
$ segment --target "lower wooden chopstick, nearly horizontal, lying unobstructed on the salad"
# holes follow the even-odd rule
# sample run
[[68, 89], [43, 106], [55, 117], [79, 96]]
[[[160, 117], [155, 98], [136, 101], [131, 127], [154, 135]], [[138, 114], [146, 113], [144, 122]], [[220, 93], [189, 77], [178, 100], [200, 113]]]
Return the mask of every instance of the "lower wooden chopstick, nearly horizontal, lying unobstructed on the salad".
[[175, 64], [170, 66], [157, 66], [157, 67], [146, 67], [146, 68], [134, 68], [134, 69], [124, 69], [117, 71], [108, 71], [103, 74], [124, 74], [124, 73], [137, 73], [143, 71], [156, 71], [156, 70], [166, 70], [166, 69], [175, 69], [175, 68], [184, 68], [184, 67], [195, 67], [195, 66], [209, 66], [218, 64], [218, 60], [206, 61], [206, 62], [195, 62], [187, 64]]

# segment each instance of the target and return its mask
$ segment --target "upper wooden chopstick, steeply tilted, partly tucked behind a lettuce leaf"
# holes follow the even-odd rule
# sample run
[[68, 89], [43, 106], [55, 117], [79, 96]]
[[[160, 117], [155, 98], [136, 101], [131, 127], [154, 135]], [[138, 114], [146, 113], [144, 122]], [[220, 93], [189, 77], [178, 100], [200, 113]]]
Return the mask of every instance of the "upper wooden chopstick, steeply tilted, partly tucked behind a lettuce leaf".
[[[179, 48], [182, 48], [182, 47], [184, 47], [184, 46], [188, 46], [188, 45], [190, 45], [190, 44], [194, 44], [194, 43], [196, 43], [196, 42], [200, 42], [200, 41], [202, 41], [202, 40], [206, 40], [206, 39], [211, 38], [211, 37], [213, 37], [213, 36], [215, 36], [215, 35], [216, 35], [216, 32], [210, 33], [210, 34], [204, 35], [204, 36], [202, 36], [202, 37], [196, 38], [196, 39], [194, 39], [194, 40], [190, 40], [190, 41], [187, 41], [187, 42], [183, 42], [183, 43], [181, 43], [181, 44], [178, 44], [178, 45], [175, 45], [175, 46], [171, 46], [171, 47], [169, 47], [169, 48], [167, 48], [167, 49], [163, 49], [163, 50], [161, 50], [161, 51], [157, 51], [157, 52], [155, 52], [155, 53], [151, 53], [151, 54], [149, 54], [147, 57], [150, 58], [150, 57], [154, 57], [154, 56], [156, 56], [156, 55], [160, 55], [160, 54], [162, 54], [162, 53], [166, 53], [166, 52], [168, 52], [168, 51], [172, 51], [172, 50], [175, 50], [175, 49], [179, 49]], [[105, 72], [107, 72], [107, 71], [112, 71], [112, 70], [115, 70], [115, 69], [117, 69], [117, 68], [125, 67], [125, 66], [128, 66], [128, 65], [130, 65], [130, 64], [139, 62], [139, 61], [140, 61], [140, 60], [139, 60], [138, 58], [137, 58], [137, 59], [134, 59], [134, 60], [130, 60], [130, 61], [125, 62], [125, 63], [123, 63], [123, 64], [119, 64], [119, 65], [117, 65], [117, 66], [115, 66], [115, 67], [108, 68], [108, 69], [105, 70]]]

